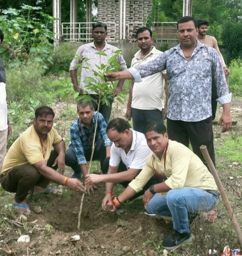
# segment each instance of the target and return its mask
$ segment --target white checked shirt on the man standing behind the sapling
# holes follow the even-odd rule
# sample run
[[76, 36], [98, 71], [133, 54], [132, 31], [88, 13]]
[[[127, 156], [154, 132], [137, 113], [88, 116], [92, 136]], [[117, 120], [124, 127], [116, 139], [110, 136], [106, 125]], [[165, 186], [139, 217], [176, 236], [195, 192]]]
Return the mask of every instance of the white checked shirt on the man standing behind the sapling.
[[[81, 64], [81, 63], [83, 63], [83, 65], [86, 66], [85, 59], [86, 60], [88, 59], [88, 63], [90, 64], [91, 69], [95, 71], [99, 71], [96, 65], [101, 66], [102, 63], [107, 65], [108, 59], [112, 55], [114, 55], [114, 52], [116, 50], [118, 50], [117, 47], [105, 43], [105, 47], [102, 49], [102, 52], [105, 52], [107, 56], [104, 56], [104, 55], [96, 54], [97, 52], [99, 52], [99, 50], [96, 48], [96, 45], [94, 44], [94, 42], [81, 45], [76, 51], [76, 55], [80, 56], [80, 58], [73, 58], [72, 62], [70, 63], [70, 71], [77, 70], [78, 64]], [[126, 62], [124, 60], [123, 55], [118, 54], [117, 61], [118, 61], [118, 64], [121, 65], [121, 70], [127, 69]], [[87, 77], [95, 78], [92, 70], [82, 68], [81, 77], [80, 77], [80, 87], [82, 89], [85, 89], [85, 85], [87, 83], [84, 83], [83, 80], [85, 80]], [[90, 91], [90, 90], [86, 90], [86, 92], [89, 94], [97, 94], [96, 92]]]

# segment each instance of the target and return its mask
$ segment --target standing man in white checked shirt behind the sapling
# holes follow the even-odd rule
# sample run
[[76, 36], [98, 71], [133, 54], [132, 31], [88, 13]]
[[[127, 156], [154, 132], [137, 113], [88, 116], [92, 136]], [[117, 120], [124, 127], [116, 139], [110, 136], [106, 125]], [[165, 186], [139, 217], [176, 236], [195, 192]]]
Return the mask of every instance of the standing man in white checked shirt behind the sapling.
[[[102, 22], [97, 22], [92, 26], [92, 37], [94, 39], [94, 42], [81, 45], [76, 52], [76, 56], [79, 56], [79, 58], [75, 57], [73, 58], [72, 62], [70, 63], [70, 77], [73, 83], [74, 90], [79, 92], [80, 94], [89, 94], [89, 96], [93, 100], [94, 108], [97, 110], [97, 102], [99, 99], [98, 94], [94, 91], [86, 90], [85, 86], [87, 83], [84, 82], [85, 78], [87, 77], [93, 77], [94, 74], [92, 70], [98, 71], [96, 65], [100, 66], [101, 64], [108, 65], [108, 59], [114, 54], [116, 50], [118, 50], [117, 47], [109, 45], [105, 42], [105, 38], [107, 36], [107, 25]], [[97, 52], [104, 52], [107, 54], [107, 56], [104, 55], [97, 55]], [[77, 81], [77, 69], [78, 64], [85, 63], [85, 60], [88, 59], [88, 62], [90, 64], [90, 69], [82, 68], [81, 69], [81, 77], [80, 77], [80, 86]], [[119, 65], [121, 65], [121, 70], [126, 70], [126, 62], [121, 54], [117, 57]], [[122, 90], [124, 84], [124, 79], [121, 79], [118, 81], [116, 92]], [[113, 95], [110, 95], [109, 99], [109, 106], [106, 104], [103, 104], [101, 102], [99, 107], [99, 112], [103, 115], [106, 123], [108, 123], [110, 115], [111, 115], [111, 106], [113, 102]]]

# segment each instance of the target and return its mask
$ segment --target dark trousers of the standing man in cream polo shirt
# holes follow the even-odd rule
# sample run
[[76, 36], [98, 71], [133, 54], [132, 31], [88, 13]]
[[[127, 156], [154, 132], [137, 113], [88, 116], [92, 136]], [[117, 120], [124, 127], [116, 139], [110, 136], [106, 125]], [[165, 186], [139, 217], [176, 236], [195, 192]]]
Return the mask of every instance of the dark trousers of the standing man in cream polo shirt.
[[140, 133], [144, 133], [145, 126], [148, 123], [164, 123], [162, 111], [159, 109], [143, 110], [132, 107], [131, 116], [134, 130]]

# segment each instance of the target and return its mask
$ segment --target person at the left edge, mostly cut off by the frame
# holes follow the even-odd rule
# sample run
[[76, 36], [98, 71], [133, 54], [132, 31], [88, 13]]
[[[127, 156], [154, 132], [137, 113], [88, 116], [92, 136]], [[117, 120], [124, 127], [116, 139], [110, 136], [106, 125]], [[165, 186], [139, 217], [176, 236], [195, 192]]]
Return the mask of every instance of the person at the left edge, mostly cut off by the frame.
[[[0, 29], [0, 45], [3, 42], [4, 34]], [[12, 128], [7, 115], [6, 102], [6, 77], [3, 61], [0, 59], [0, 171], [3, 166], [3, 159], [7, 152], [7, 138], [12, 134]]]

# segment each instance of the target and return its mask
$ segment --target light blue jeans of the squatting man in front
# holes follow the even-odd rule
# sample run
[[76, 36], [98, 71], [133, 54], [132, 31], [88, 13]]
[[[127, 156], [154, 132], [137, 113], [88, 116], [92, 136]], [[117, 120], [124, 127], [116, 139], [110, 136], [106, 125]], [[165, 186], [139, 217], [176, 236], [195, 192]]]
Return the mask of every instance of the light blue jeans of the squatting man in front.
[[149, 201], [146, 211], [150, 214], [172, 217], [174, 230], [189, 233], [188, 214], [208, 212], [218, 202], [218, 195], [201, 188], [184, 187], [171, 189], [165, 195], [156, 193]]

